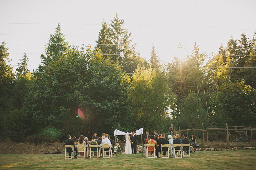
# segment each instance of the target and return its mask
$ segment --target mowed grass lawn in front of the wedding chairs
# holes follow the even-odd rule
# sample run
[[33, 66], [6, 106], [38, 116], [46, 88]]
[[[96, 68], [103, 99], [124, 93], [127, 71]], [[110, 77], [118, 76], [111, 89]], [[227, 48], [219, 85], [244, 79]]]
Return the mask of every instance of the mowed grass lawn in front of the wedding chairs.
[[1, 154], [0, 169], [256, 169], [256, 150], [203, 151], [184, 158], [64, 159], [64, 154]]

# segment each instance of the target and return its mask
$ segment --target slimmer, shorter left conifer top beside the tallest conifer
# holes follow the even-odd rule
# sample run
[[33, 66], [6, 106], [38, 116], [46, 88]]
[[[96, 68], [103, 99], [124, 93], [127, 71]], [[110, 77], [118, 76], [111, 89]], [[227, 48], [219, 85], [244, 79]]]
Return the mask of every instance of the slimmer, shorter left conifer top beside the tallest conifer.
[[95, 49], [101, 49], [104, 57], [106, 57], [107, 54], [110, 54], [111, 41], [109, 31], [110, 29], [108, 28], [106, 22], [102, 22], [102, 28], [99, 31], [98, 40], [96, 41], [97, 46]]

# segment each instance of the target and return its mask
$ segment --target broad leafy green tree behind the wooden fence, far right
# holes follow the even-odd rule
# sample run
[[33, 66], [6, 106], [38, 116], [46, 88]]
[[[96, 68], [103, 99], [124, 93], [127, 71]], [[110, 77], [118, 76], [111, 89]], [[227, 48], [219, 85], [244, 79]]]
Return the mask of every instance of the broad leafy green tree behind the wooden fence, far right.
[[249, 126], [256, 123], [256, 90], [245, 81], [229, 82], [217, 86], [212, 94], [211, 108], [214, 123]]

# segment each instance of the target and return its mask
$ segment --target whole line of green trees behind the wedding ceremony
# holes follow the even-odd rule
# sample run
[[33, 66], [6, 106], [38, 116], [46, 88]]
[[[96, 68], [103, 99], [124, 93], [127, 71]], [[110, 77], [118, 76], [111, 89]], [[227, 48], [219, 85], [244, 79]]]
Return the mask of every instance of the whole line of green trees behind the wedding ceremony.
[[[95, 47], [70, 46], [58, 24], [41, 64], [29, 58], [14, 71], [0, 45], [0, 133], [14, 141], [63, 140], [113, 134], [114, 129], [167, 133], [181, 128], [256, 125], [256, 32], [232, 36], [206, 64], [194, 44], [186, 59], [159, 59], [152, 45], [147, 61], [135, 51], [131, 32], [118, 15], [102, 23]], [[78, 114], [82, 111], [83, 117]], [[20, 138], [20, 136], [22, 136]]]

